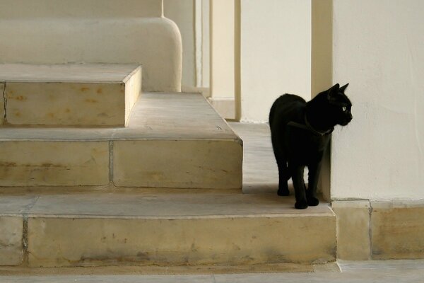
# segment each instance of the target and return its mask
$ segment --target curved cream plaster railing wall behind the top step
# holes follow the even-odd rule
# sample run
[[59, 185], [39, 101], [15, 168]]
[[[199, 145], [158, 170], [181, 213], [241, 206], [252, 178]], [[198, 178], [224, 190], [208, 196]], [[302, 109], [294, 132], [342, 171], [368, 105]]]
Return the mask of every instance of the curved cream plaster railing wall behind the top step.
[[138, 63], [144, 91], [181, 91], [181, 35], [161, 0], [0, 0], [0, 62]]

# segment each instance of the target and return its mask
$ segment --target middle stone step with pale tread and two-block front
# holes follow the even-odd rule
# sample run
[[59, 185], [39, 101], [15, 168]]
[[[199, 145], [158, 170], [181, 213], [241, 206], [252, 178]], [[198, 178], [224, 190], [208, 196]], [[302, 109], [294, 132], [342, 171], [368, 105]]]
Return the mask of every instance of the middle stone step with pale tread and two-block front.
[[241, 189], [242, 140], [200, 94], [144, 93], [117, 128], [0, 128], [0, 187]]

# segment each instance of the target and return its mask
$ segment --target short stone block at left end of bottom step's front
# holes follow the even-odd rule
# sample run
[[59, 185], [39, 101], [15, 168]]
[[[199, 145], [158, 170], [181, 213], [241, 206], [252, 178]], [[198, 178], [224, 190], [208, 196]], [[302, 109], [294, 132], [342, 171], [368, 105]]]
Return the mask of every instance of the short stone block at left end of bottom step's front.
[[0, 265], [23, 261], [23, 217], [0, 216]]

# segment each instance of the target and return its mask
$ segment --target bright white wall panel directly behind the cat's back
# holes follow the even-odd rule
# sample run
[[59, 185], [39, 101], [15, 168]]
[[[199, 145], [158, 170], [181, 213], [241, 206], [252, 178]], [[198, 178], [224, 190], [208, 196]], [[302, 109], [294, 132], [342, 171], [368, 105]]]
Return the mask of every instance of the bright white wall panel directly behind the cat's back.
[[241, 0], [242, 121], [264, 122], [283, 93], [310, 100], [311, 0]]

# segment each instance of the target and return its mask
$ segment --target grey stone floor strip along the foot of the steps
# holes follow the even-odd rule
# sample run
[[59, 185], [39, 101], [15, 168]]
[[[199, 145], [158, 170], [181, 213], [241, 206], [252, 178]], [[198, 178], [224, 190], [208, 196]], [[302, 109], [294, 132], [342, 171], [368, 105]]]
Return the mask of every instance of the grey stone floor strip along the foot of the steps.
[[[0, 282], [43, 282], [43, 283], [71, 283], [71, 282], [261, 282], [261, 283], [363, 283], [363, 282], [423, 282], [424, 260], [386, 260], [365, 262], [338, 262], [341, 272], [316, 271], [316, 272], [271, 272], [271, 273], [239, 273], [239, 274], [214, 274], [214, 275], [138, 275], [135, 272], [127, 275], [1, 275]], [[4, 272], [1, 272], [2, 274]]]

